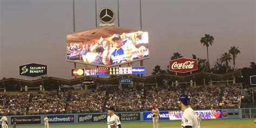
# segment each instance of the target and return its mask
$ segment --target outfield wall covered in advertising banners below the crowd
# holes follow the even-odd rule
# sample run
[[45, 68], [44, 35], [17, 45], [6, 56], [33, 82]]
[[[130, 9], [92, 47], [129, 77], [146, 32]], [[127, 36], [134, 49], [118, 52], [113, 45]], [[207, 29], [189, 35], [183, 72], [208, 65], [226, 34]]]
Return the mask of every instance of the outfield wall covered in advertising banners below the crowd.
[[[202, 119], [241, 119], [241, 109], [195, 110]], [[117, 112], [121, 122], [151, 121], [152, 114], [145, 112]], [[160, 111], [159, 120], [181, 120], [182, 111]], [[66, 123], [99, 123], [106, 122], [107, 113], [79, 113], [79, 114], [45, 114], [33, 116], [8, 116], [8, 122], [17, 119], [18, 125], [44, 124], [44, 116], [48, 116], [49, 124]]]

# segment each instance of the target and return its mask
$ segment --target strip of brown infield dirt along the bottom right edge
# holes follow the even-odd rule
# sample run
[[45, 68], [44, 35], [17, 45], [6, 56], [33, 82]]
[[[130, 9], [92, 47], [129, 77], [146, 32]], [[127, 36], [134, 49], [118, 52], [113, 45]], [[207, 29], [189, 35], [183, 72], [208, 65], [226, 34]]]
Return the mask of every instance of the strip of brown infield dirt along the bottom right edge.
[[[160, 128], [181, 128], [181, 126], [164, 126]], [[232, 124], [226, 124], [226, 125], [203, 125], [200, 126], [201, 128], [253, 128], [256, 127], [256, 124], [237, 124], [237, 125], [232, 125]], [[152, 127], [142, 127], [142, 128], [152, 128]]]

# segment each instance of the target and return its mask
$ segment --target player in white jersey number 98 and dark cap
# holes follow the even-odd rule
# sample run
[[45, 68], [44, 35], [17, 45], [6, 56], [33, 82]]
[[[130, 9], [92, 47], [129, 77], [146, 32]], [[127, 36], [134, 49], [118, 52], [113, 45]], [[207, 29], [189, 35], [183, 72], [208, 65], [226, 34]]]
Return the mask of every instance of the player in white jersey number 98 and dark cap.
[[110, 106], [107, 108], [107, 128], [122, 128], [119, 117], [114, 114], [114, 107]]

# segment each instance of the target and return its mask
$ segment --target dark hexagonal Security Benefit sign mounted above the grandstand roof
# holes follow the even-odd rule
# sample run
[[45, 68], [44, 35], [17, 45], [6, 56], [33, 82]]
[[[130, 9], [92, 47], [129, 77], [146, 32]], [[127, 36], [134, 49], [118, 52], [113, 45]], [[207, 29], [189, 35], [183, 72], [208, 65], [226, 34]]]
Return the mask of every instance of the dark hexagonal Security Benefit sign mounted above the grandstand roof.
[[47, 75], [47, 65], [31, 63], [19, 66], [19, 75], [27, 77], [39, 77]]

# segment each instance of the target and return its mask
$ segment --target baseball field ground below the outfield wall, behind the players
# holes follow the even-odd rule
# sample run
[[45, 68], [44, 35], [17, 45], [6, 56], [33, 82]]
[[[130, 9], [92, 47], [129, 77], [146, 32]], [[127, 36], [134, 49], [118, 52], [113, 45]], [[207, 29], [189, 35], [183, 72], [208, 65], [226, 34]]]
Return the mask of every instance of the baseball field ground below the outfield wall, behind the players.
[[[220, 120], [203, 120], [201, 128], [255, 128], [254, 119], [220, 119]], [[12, 127], [12, 126], [10, 126]], [[18, 128], [43, 128], [44, 125], [21, 125]], [[50, 124], [50, 128], [100, 128], [107, 127], [106, 123], [89, 123], [89, 124]], [[124, 128], [152, 128], [152, 122], [122, 122]], [[180, 128], [180, 121], [159, 123], [160, 128]]]

